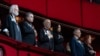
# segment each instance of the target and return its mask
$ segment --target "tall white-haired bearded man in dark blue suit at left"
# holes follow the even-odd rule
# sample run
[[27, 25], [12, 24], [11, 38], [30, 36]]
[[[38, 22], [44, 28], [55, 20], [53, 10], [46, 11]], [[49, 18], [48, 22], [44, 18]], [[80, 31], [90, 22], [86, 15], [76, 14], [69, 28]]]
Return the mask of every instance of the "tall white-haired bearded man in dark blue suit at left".
[[5, 25], [4, 25], [5, 29], [3, 31], [6, 33], [9, 32], [9, 36], [12, 39], [15, 39], [17, 41], [22, 41], [21, 31], [15, 19], [16, 16], [18, 15], [19, 15], [18, 5], [16, 4], [11, 5], [10, 10], [9, 10], [9, 15], [7, 16], [5, 20]]

